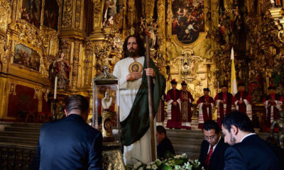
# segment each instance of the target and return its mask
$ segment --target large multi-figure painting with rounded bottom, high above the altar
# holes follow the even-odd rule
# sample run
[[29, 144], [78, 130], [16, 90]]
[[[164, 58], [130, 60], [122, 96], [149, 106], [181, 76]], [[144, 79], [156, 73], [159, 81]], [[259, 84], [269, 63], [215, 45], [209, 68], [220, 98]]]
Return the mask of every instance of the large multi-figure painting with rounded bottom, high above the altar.
[[204, 32], [204, 0], [173, 0], [172, 12], [172, 35], [185, 44], [195, 42]]

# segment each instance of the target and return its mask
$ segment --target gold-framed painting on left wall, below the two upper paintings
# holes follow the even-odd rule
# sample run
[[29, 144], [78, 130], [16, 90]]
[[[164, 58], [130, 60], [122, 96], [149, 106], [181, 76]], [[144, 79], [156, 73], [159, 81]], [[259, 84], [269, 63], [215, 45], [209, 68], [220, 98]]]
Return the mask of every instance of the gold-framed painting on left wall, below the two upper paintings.
[[35, 50], [32, 50], [25, 45], [18, 44], [15, 47], [15, 56], [13, 63], [20, 64], [28, 69], [40, 71], [40, 55]]

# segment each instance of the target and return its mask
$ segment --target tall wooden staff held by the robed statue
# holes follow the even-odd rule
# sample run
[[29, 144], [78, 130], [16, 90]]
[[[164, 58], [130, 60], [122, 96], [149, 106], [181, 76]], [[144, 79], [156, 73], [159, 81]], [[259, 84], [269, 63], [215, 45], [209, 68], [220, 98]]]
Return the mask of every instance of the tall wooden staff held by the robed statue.
[[[146, 35], [146, 67], [151, 68], [150, 47], [149, 47], [148, 35]], [[153, 92], [152, 92], [153, 80], [152, 80], [152, 77], [147, 76], [147, 81], [148, 81], [149, 119], [150, 119], [150, 130], [151, 130], [151, 155], [152, 155], [152, 161], [155, 161], [155, 134], [154, 134], [154, 116], [153, 116]]]

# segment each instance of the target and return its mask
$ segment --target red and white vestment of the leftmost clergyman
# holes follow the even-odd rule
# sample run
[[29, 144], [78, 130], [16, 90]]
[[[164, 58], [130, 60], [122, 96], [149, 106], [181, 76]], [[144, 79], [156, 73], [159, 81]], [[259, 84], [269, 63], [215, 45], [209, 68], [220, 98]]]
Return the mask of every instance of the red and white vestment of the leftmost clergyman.
[[[182, 128], [181, 109], [181, 91], [178, 89], [170, 89], [167, 93], [165, 101], [168, 102], [168, 122], [167, 128]], [[176, 102], [176, 106], [173, 104]]]

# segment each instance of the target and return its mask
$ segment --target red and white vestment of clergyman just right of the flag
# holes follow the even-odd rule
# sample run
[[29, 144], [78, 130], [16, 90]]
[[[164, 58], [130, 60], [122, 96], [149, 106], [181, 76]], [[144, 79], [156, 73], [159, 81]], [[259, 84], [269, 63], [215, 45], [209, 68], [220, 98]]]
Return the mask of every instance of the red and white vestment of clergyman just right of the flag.
[[[242, 103], [239, 103], [242, 101]], [[253, 120], [253, 113], [251, 111], [251, 95], [247, 91], [239, 91], [234, 96], [234, 104], [236, 105], [236, 111], [246, 113], [250, 120]]]

